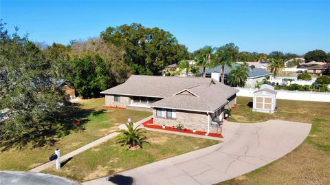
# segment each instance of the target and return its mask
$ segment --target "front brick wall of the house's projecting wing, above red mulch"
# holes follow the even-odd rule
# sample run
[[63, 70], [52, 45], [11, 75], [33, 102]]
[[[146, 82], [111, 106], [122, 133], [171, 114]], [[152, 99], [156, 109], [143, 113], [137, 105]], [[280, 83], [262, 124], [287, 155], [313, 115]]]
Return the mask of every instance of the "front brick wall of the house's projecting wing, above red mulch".
[[156, 109], [153, 109], [153, 122], [160, 125], [165, 124], [168, 127], [181, 123], [187, 129], [208, 131], [208, 116], [207, 113], [202, 112], [176, 110], [176, 118], [171, 119], [156, 117]]

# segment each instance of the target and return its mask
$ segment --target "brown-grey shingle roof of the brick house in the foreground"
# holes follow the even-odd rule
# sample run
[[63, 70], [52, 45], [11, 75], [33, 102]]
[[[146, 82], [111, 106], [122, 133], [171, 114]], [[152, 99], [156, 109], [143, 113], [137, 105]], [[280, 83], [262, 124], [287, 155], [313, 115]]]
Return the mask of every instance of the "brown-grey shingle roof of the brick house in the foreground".
[[[184, 89], [196, 96], [177, 94]], [[164, 98], [152, 107], [214, 111], [227, 104], [237, 91], [212, 78], [132, 75], [122, 85], [101, 93]]]

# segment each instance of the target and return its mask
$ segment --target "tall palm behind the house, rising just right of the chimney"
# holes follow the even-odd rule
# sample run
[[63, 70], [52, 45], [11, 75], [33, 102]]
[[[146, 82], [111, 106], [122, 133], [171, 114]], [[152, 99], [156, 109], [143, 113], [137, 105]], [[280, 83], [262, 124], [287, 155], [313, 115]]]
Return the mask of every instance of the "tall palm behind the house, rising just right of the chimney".
[[221, 83], [225, 83], [225, 65], [232, 69], [232, 64], [239, 58], [239, 47], [234, 43], [229, 43], [218, 48], [217, 54], [217, 65], [221, 65]]

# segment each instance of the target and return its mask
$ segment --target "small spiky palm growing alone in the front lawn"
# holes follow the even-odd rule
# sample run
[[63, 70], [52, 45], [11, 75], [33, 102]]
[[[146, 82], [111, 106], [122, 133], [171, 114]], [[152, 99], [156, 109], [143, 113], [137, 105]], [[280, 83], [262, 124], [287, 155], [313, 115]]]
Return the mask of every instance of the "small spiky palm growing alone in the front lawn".
[[137, 145], [142, 148], [143, 143], [149, 143], [146, 141], [146, 135], [144, 135], [144, 133], [146, 133], [146, 130], [142, 128], [138, 129], [140, 125], [135, 128], [133, 123], [125, 123], [125, 125], [127, 127], [127, 130], [122, 129], [118, 131], [121, 133], [120, 137], [117, 138], [118, 143], [121, 143], [122, 146], [129, 144], [129, 148], [132, 148]]

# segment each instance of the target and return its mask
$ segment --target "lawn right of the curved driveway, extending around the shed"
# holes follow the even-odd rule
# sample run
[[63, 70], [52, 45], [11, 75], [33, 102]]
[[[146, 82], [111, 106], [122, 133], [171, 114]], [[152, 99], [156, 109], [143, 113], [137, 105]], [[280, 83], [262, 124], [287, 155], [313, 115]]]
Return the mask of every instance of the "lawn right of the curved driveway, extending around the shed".
[[311, 122], [311, 132], [303, 144], [281, 159], [219, 184], [330, 184], [330, 103], [278, 100], [278, 113], [272, 115], [250, 111], [246, 105], [250, 100], [238, 98], [240, 107], [232, 111], [232, 120]]

